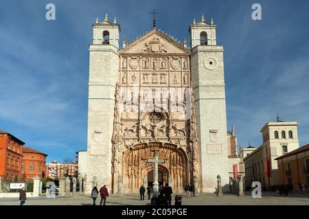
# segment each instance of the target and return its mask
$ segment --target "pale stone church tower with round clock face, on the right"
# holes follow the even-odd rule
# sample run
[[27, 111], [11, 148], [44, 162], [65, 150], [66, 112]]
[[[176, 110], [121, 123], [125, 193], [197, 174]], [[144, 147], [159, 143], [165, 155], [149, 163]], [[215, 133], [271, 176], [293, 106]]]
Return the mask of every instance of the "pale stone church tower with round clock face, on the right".
[[215, 192], [218, 179], [221, 180], [223, 192], [229, 190], [224, 50], [222, 45], [217, 45], [216, 27], [212, 18], [206, 22], [203, 15], [201, 22], [196, 23], [194, 19], [189, 29], [201, 192]]

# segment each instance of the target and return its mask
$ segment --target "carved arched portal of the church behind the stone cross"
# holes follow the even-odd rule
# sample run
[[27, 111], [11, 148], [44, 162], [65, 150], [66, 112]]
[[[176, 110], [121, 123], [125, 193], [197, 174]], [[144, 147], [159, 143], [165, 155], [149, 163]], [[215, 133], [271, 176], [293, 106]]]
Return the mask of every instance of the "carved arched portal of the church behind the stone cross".
[[159, 183], [165, 185], [170, 177], [172, 188], [183, 190], [188, 179], [187, 154], [181, 147], [170, 142], [149, 142], [136, 144], [128, 149], [123, 156], [122, 189], [123, 192], [138, 192], [146, 177], [147, 183], [153, 182], [153, 164], [146, 159], [153, 158], [153, 149], [157, 147], [160, 159], [165, 159], [158, 165]]

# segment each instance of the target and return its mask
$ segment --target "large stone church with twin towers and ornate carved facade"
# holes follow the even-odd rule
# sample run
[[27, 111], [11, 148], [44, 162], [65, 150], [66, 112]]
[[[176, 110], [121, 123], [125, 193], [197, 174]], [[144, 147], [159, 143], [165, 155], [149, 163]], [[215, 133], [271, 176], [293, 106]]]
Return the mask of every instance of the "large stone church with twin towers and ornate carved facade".
[[[113, 193], [137, 192], [153, 182], [175, 192], [194, 183], [215, 192], [217, 175], [229, 187], [229, 150], [223, 47], [214, 21], [195, 20], [190, 46], [154, 28], [133, 42], [114, 21], [93, 24], [89, 46], [86, 192], [107, 185]], [[121, 190], [121, 191], [119, 191]]]

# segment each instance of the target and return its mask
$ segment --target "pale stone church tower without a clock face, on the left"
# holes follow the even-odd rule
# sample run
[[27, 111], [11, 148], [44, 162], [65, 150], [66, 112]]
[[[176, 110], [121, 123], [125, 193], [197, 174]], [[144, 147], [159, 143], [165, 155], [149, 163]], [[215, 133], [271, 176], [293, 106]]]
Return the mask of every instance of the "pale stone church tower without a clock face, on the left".
[[[93, 43], [89, 45], [89, 98], [87, 135], [87, 185], [111, 188], [111, 156], [115, 86], [119, 68], [120, 25], [116, 18], [93, 23]], [[84, 175], [84, 173], [81, 173]]]

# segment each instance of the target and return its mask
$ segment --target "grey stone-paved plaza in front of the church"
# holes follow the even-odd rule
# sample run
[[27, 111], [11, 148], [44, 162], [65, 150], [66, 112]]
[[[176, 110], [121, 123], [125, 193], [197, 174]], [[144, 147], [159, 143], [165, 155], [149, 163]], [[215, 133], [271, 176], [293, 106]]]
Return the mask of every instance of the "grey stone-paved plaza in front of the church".
[[[25, 205], [92, 205], [90, 196], [74, 196], [71, 198], [58, 197], [27, 198]], [[100, 205], [100, 197], [96, 201]], [[124, 194], [122, 197], [111, 195], [107, 198], [106, 205], [146, 205], [148, 200], [139, 201], [139, 194]], [[172, 199], [174, 204], [174, 197]], [[0, 205], [19, 205], [16, 198], [1, 198]], [[262, 198], [252, 198], [250, 192], [245, 192], [244, 197], [235, 194], [224, 194], [217, 197], [216, 194], [200, 194], [196, 197], [186, 198], [183, 194], [183, 205], [309, 205], [308, 194], [289, 194], [279, 196], [274, 192], [262, 192]]]

